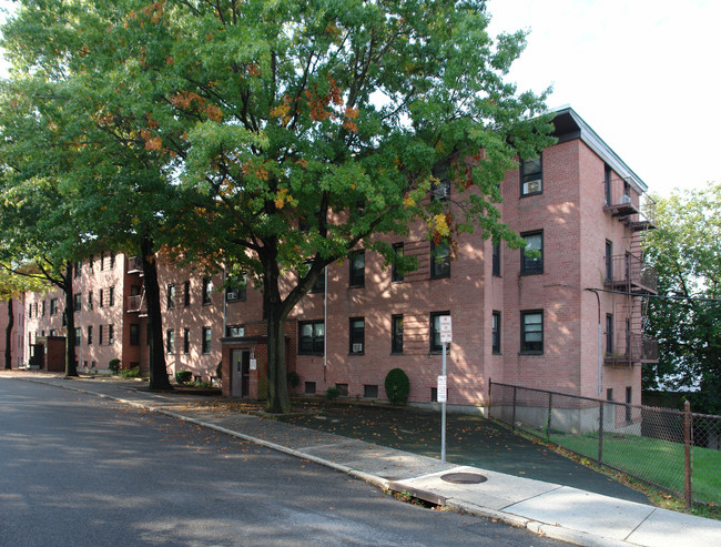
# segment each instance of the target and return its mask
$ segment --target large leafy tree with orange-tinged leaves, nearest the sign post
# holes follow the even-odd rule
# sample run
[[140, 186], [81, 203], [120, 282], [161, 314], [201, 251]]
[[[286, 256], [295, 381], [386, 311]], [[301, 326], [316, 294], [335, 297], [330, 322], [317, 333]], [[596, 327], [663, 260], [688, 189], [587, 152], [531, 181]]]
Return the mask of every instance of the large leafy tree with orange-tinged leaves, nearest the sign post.
[[483, 1], [20, 3], [13, 54], [70, 70], [97, 125], [142, 139], [182, 189], [171, 247], [261, 285], [272, 412], [288, 407], [285, 320], [327, 264], [363, 245], [413, 267], [374, 237], [410, 225], [521, 244], [498, 182], [550, 126], [544, 97], [505, 81], [525, 36], [491, 39]]

